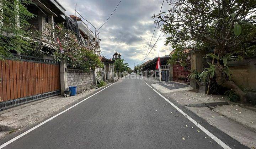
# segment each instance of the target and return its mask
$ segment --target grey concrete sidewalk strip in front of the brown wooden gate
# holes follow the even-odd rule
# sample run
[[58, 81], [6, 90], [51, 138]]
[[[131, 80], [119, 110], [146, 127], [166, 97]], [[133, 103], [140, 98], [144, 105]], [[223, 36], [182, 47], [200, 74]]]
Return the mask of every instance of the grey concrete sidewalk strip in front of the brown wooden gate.
[[101, 88], [87, 90], [84, 93], [66, 98], [64, 98], [64, 96], [53, 96], [1, 111], [0, 138], [6, 136], [6, 134], [19, 131], [26, 126], [36, 123], [54, 112], [59, 111], [63, 107], [84, 98], [86, 95], [96, 92]]

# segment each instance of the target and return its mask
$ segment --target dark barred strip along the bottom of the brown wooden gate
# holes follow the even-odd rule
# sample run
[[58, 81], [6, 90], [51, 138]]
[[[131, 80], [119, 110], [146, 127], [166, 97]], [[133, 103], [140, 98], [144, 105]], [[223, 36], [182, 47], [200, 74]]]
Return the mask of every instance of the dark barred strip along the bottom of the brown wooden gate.
[[2, 111], [4, 109], [12, 107], [12, 106], [29, 103], [31, 101], [44, 99], [44, 98], [58, 95], [58, 94], [60, 94], [60, 90], [56, 90], [53, 92], [47, 92], [47, 93], [43, 93], [43, 94], [38, 94], [38, 95], [33, 95], [33, 96], [28, 96], [28, 97], [24, 97], [24, 98], [18, 98], [18, 99], [9, 100], [9, 101], [4, 101], [4, 102], [0, 103], [0, 110]]

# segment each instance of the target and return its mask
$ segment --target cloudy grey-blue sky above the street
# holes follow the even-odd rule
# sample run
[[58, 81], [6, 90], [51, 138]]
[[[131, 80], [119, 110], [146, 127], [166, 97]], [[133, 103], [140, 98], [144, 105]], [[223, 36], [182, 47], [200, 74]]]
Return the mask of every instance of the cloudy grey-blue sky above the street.
[[[59, 0], [66, 11], [66, 15], [75, 15], [77, 11], [94, 26], [100, 27], [115, 9], [120, 0]], [[107, 58], [117, 51], [134, 68], [134, 64], [143, 61], [148, 50], [151, 36], [154, 31], [152, 15], [159, 13], [162, 0], [122, 0], [111, 18], [99, 30], [101, 51]], [[168, 4], [165, 1], [162, 12], [167, 12]], [[157, 29], [151, 46], [159, 37]], [[170, 53], [169, 46], [164, 46], [165, 37], [161, 36], [147, 60]]]

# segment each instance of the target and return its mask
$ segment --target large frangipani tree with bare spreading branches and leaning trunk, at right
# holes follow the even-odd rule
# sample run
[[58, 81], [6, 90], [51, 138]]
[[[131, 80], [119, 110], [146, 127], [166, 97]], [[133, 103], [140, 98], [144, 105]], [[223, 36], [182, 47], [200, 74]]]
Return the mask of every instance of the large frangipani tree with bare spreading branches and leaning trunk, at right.
[[171, 7], [168, 13], [153, 16], [160, 18], [162, 31], [169, 35], [166, 45], [173, 49], [213, 46], [211, 57], [218, 57], [214, 66], [217, 83], [233, 89], [246, 102], [246, 93], [224, 73], [226, 63], [222, 58], [240, 51], [241, 42], [255, 31], [256, 1], [169, 0], [168, 3]]

